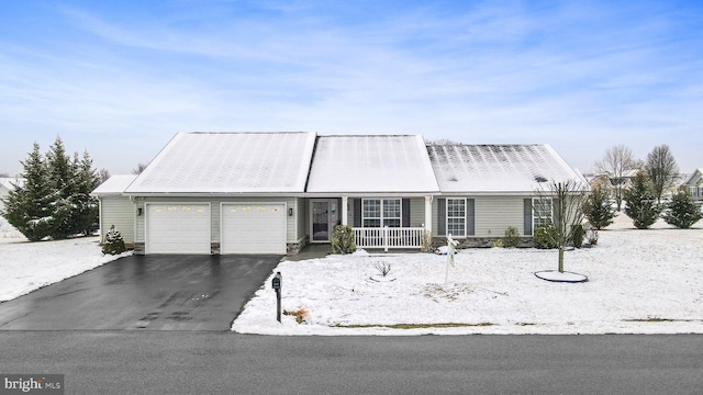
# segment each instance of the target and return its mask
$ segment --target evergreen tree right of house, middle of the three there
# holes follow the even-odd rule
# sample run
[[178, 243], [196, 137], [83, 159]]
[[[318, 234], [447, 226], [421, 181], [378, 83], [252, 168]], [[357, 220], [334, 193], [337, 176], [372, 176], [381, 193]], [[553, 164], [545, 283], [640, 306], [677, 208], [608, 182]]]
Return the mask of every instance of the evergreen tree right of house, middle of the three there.
[[625, 190], [624, 198], [627, 202], [625, 214], [633, 219], [638, 229], [649, 228], [659, 218], [661, 211], [646, 172], [639, 171], [635, 176], [633, 185]]

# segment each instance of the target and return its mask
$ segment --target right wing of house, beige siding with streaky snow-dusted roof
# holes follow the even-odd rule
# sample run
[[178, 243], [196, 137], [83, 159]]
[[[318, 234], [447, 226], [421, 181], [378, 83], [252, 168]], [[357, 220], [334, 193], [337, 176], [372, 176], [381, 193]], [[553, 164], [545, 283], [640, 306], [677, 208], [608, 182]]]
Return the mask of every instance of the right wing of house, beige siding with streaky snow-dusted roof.
[[429, 145], [427, 150], [442, 192], [433, 207], [435, 235], [451, 234], [464, 247], [489, 247], [509, 227], [528, 238], [536, 226], [551, 223], [556, 207], [544, 199], [551, 180], [576, 180], [579, 189], [590, 190], [549, 145]]

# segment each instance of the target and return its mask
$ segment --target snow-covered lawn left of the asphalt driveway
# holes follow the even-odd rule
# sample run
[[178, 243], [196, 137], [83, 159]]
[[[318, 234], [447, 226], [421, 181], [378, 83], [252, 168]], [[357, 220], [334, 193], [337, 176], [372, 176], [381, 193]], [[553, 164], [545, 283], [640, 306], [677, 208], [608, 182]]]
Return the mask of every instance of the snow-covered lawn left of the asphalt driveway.
[[[4, 222], [2, 217], [0, 219]], [[99, 237], [29, 242], [16, 229], [5, 225], [0, 228], [0, 302], [121, 257], [103, 256]]]

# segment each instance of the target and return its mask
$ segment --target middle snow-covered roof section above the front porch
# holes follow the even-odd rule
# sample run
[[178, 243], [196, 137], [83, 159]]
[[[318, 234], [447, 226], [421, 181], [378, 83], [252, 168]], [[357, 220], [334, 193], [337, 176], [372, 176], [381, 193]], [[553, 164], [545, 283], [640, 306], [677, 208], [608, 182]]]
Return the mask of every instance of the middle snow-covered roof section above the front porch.
[[308, 192], [438, 191], [422, 136], [321, 136], [317, 139]]

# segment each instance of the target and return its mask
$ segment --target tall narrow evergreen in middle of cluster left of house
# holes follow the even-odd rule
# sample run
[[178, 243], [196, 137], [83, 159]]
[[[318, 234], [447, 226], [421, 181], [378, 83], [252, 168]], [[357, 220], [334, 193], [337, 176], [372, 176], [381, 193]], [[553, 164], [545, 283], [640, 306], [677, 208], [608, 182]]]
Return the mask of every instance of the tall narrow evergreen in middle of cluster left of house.
[[76, 166], [66, 154], [64, 143], [58, 136], [46, 154], [46, 167], [48, 182], [53, 190], [54, 219], [52, 222], [52, 237], [54, 239], [65, 239], [74, 235], [76, 230], [76, 224], [72, 218], [72, 212], [76, 207], [71, 201], [71, 195], [76, 191], [74, 179]]

